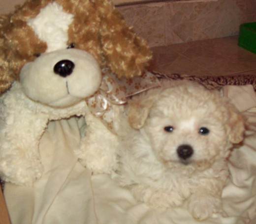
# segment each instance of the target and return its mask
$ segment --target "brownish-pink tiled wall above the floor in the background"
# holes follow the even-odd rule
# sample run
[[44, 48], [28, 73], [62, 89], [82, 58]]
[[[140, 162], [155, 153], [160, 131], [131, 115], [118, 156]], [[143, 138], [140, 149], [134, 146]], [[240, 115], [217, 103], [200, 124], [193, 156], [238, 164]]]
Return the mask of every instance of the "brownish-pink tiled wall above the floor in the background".
[[118, 9], [151, 47], [233, 36], [240, 24], [256, 22], [256, 0], [163, 1]]

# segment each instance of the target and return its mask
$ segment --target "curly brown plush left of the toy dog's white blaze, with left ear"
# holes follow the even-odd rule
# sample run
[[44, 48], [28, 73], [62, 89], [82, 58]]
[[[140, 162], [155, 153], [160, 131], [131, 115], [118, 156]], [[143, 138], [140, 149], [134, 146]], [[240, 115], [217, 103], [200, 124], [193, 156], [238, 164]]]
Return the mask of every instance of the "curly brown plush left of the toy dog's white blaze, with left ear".
[[13, 13], [0, 16], [0, 94], [19, 80], [21, 68], [34, 60], [35, 53], [47, 48], [27, 25], [27, 21], [39, 12], [41, 2], [26, 1]]

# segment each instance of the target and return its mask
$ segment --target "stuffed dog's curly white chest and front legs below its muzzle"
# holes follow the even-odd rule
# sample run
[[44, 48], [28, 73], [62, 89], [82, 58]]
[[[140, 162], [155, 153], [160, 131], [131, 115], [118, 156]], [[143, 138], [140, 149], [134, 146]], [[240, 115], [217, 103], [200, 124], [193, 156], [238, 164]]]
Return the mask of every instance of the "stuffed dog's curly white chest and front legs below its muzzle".
[[14, 83], [0, 98], [0, 105], [1, 179], [31, 185], [39, 178], [43, 167], [38, 144], [48, 122], [74, 115], [85, 116], [88, 124], [80, 148], [74, 149], [81, 163], [96, 173], [111, 173], [116, 166], [116, 135], [90, 113], [85, 100], [70, 107], [54, 108], [30, 100], [20, 83]]

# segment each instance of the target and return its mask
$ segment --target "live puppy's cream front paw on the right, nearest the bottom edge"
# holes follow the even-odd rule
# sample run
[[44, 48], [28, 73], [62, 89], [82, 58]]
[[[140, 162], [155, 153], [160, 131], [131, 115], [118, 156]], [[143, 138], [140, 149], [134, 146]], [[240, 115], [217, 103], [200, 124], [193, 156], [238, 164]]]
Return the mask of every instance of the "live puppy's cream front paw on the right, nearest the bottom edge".
[[221, 199], [206, 194], [194, 194], [188, 200], [188, 210], [194, 219], [206, 220], [221, 207]]

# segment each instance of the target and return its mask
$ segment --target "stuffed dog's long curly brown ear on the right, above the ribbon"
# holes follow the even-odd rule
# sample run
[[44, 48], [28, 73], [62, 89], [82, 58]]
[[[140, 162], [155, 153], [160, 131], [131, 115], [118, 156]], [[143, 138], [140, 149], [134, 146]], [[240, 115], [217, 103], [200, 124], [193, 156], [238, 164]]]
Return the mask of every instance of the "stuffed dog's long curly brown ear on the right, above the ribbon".
[[95, 0], [100, 10], [100, 39], [105, 64], [118, 77], [142, 75], [152, 58], [145, 40], [128, 26], [110, 0]]

